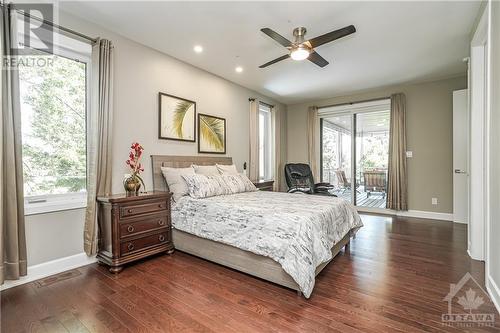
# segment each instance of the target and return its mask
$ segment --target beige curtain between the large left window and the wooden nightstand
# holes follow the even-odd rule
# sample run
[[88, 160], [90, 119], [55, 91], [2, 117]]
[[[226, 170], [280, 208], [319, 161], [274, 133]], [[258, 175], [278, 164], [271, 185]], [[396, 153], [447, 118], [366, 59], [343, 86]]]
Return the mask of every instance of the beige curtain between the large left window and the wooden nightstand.
[[96, 197], [111, 193], [111, 158], [113, 129], [113, 46], [99, 39], [92, 48], [91, 102], [87, 133], [87, 211], [84, 249], [87, 255], [97, 252]]

